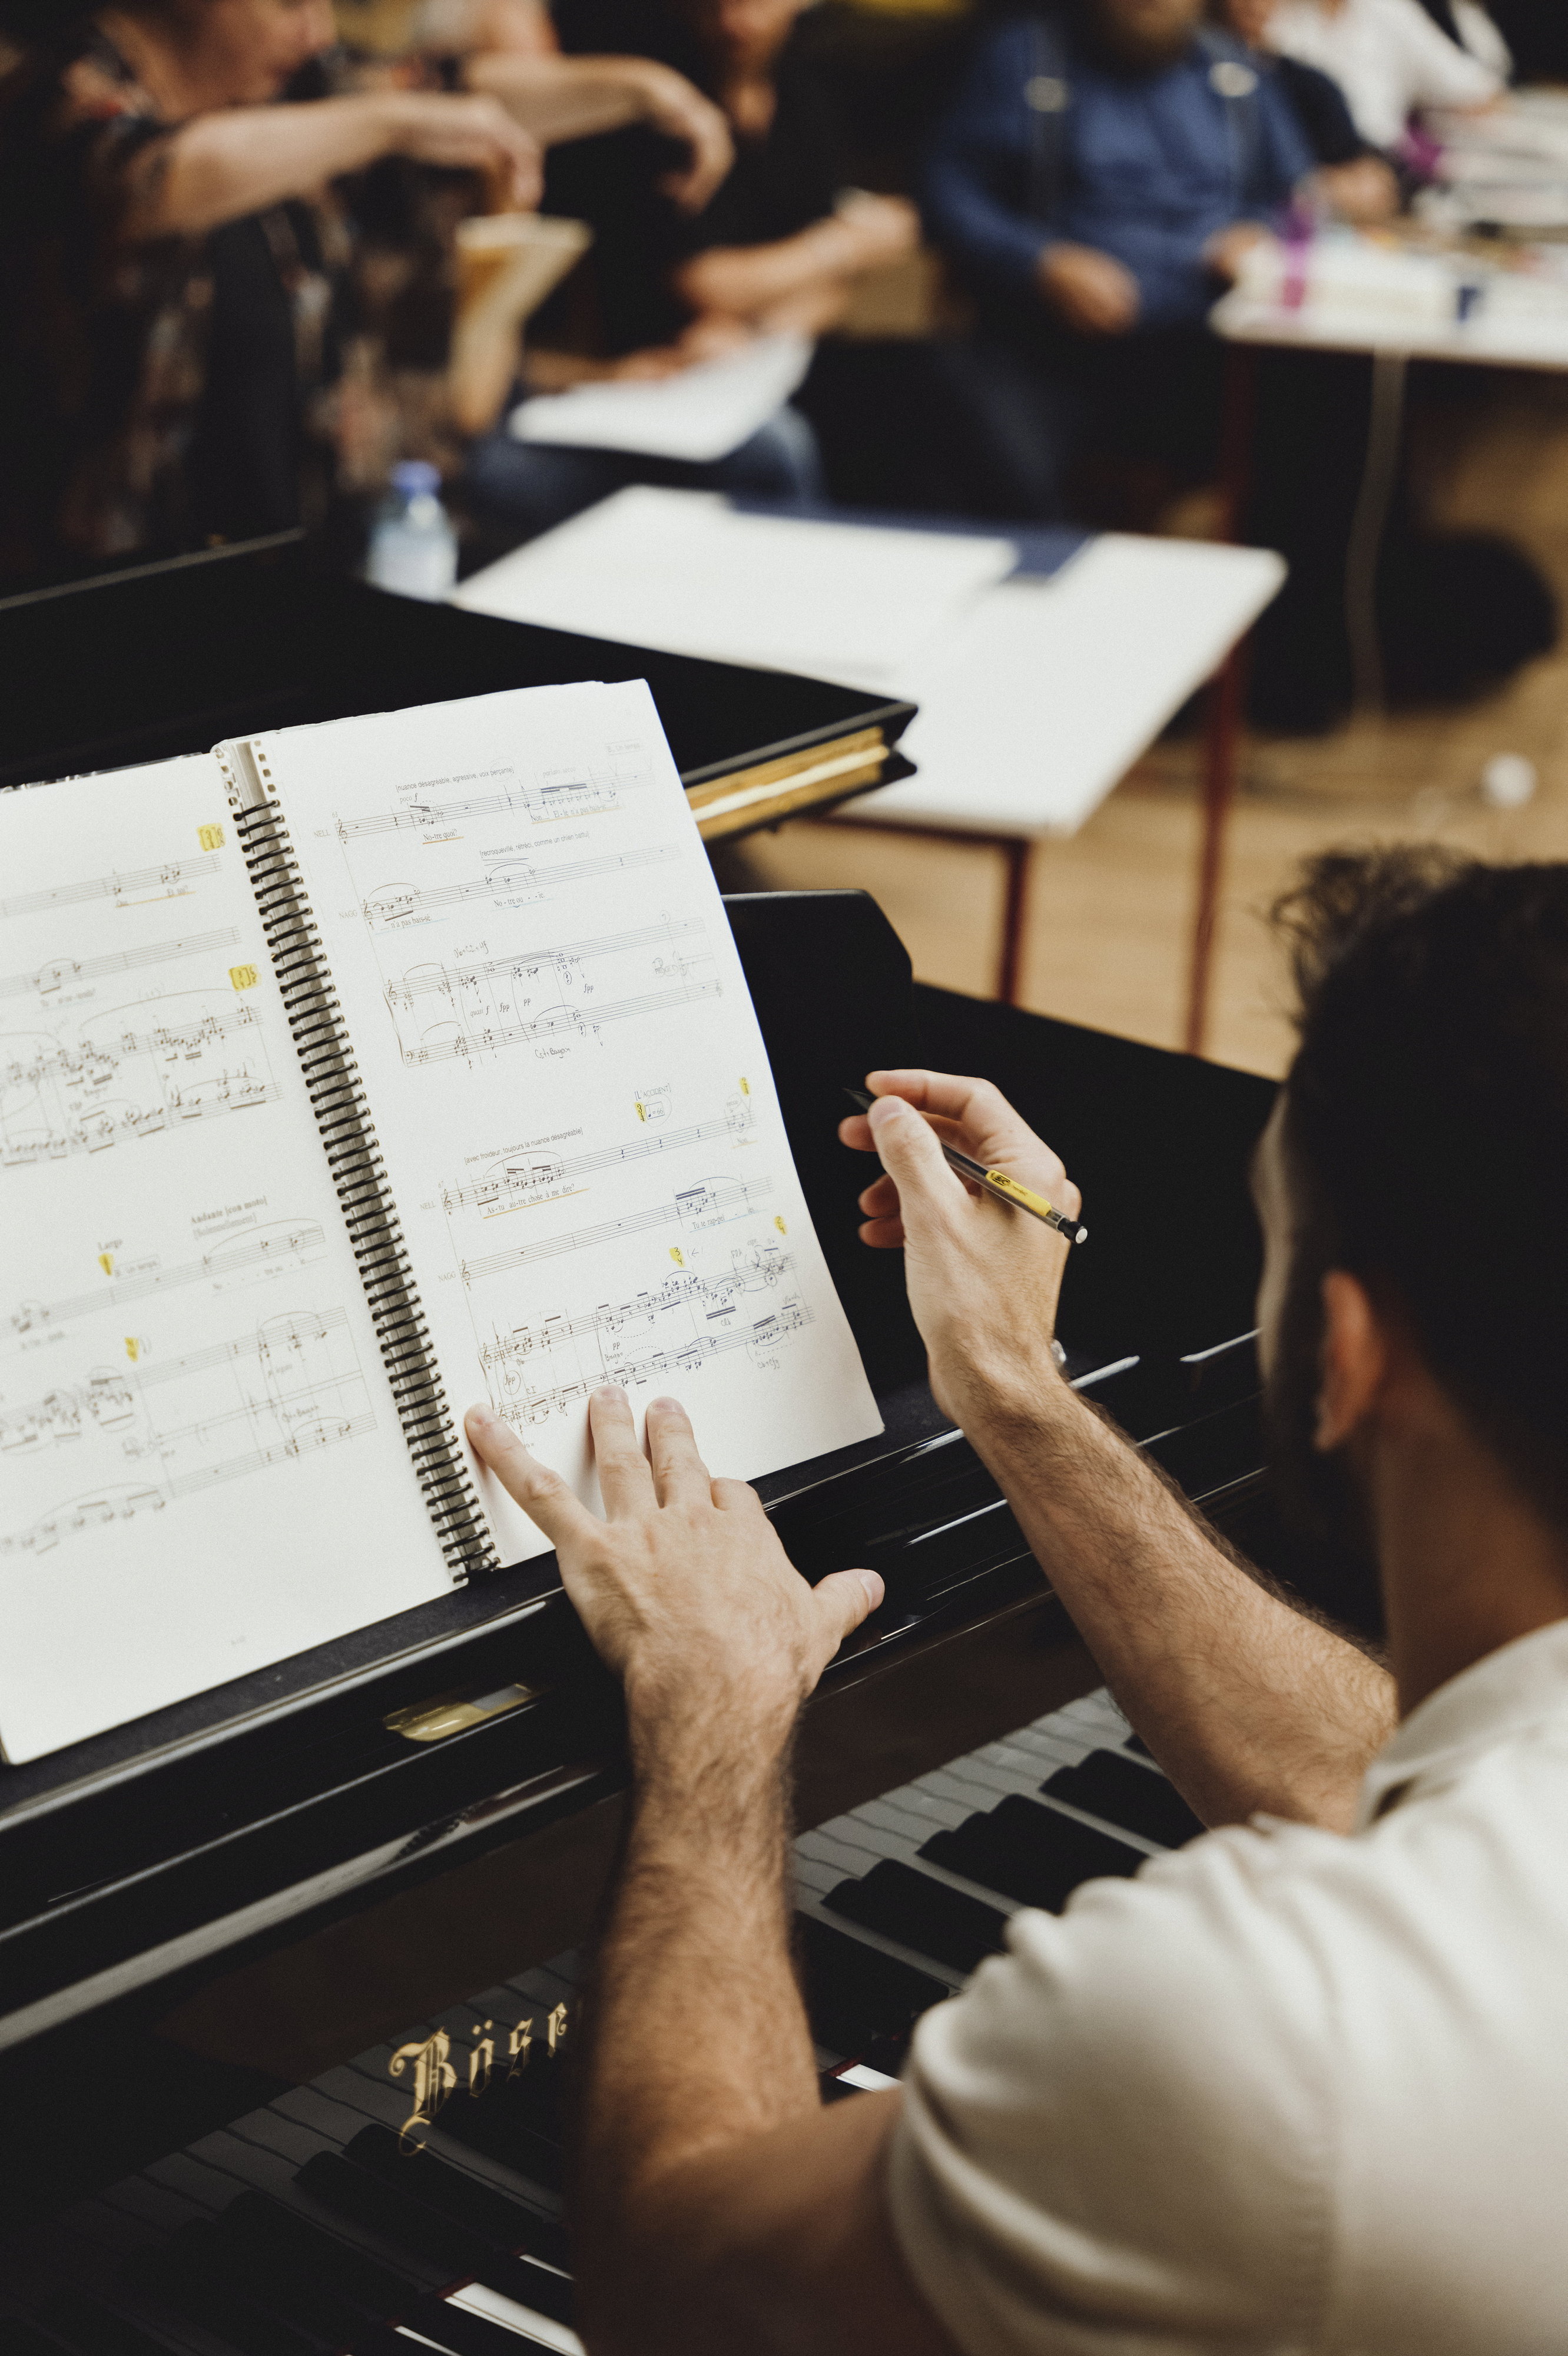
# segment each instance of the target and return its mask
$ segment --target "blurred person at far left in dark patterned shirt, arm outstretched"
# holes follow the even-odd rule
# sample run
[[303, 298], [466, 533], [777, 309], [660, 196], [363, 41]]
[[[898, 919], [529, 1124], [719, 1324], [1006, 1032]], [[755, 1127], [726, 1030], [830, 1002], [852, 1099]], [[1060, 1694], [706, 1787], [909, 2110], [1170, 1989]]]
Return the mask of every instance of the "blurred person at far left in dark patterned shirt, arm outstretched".
[[487, 94], [275, 104], [327, 0], [9, 0], [5, 28], [0, 575], [318, 521], [351, 262], [327, 184], [410, 155], [530, 205], [534, 141]]

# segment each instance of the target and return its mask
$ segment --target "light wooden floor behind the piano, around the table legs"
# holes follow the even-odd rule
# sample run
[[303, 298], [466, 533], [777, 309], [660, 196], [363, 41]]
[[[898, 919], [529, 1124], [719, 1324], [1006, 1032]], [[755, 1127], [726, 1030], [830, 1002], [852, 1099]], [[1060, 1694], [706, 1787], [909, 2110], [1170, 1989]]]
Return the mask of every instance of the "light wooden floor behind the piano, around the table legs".
[[[1568, 617], [1568, 384], [1502, 379], [1483, 410], [1450, 419], [1431, 495], [1443, 523], [1519, 540]], [[1481, 766], [1497, 752], [1537, 763], [1540, 787], [1523, 810], [1493, 810], [1481, 799]], [[1264, 912], [1297, 860], [1337, 843], [1410, 839], [1488, 860], [1568, 858], [1568, 636], [1507, 690], [1460, 712], [1248, 742], [1210, 1055], [1269, 1074], [1288, 1060], [1283, 978]], [[1078, 836], [1036, 853], [1022, 1001], [1175, 1046], [1196, 843], [1198, 744], [1163, 742]], [[923, 980], [989, 992], [1003, 881], [996, 853], [836, 834], [831, 825], [753, 836], [746, 853], [772, 886], [873, 891]]]

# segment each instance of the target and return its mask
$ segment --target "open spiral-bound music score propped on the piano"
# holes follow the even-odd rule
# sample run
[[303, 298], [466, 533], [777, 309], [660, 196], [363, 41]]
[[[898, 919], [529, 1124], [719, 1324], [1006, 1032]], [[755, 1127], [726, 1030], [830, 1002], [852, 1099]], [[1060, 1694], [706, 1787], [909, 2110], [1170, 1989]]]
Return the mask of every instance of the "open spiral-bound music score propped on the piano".
[[0, 1743], [546, 1550], [586, 1399], [716, 1472], [881, 1430], [643, 683], [0, 796]]

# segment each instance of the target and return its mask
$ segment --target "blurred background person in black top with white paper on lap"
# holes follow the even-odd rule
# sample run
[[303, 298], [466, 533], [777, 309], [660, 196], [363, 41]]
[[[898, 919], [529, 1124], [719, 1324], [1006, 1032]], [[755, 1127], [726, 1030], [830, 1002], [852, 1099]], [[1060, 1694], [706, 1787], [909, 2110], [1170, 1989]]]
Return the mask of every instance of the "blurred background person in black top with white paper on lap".
[[[859, 278], [911, 254], [902, 198], [845, 188], [831, 94], [798, 19], [808, 0], [560, 0], [567, 52], [643, 47], [695, 82], [735, 139], [735, 170], [702, 207], [671, 200], [650, 137], [560, 158], [551, 207], [591, 221], [603, 358], [534, 358], [534, 389], [591, 377], [659, 379], [744, 351], [765, 335], [817, 337]], [[822, 492], [810, 426], [782, 408], [730, 457], [685, 464], [638, 452], [480, 441], [466, 495], [492, 523], [532, 535], [622, 483], [652, 481], [763, 497]]]

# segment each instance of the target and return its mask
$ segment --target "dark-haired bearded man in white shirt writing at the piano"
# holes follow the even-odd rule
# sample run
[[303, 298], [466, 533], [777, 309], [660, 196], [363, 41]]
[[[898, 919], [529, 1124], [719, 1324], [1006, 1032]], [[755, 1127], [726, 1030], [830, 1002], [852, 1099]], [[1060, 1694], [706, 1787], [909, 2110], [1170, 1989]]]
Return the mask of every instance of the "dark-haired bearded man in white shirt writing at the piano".
[[[1568, 867], [1330, 855], [1283, 907], [1264, 1133], [1285, 1489], [1366, 1548], [1387, 1666], [1236, 1560], [1050, 1357], [1067, 1246], [984, 1081], [876, 1072], [937, 1399], [1212, 1828], [1008, 1951], [904, 2085], [819, 2106], [789, 1746], [873, 1574], [815, 1590], [685, 1414], [593, 1402], [607, 1520], [473, 1435], [626, 1687], [636, 1798], [586, 2026], [593, 2356], [1488, 2356], [1568, 2316]], [[1203, 1218], [1168, 1171], [1170, 1251]]]

